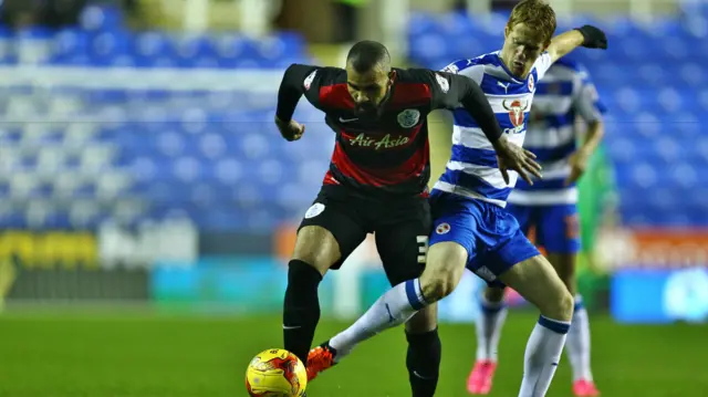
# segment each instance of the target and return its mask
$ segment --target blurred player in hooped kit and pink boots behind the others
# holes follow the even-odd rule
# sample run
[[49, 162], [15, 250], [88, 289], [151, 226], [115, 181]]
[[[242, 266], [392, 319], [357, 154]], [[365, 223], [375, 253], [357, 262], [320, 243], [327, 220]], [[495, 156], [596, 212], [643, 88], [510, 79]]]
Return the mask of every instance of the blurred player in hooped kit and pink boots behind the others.
[[[577, 188], [575, 182], [600, 144], [605, 107], [587, 71], [568, 59], [559, 60], [538, 84], [524, 148], [543, 167], [543, 180], [533, 185], [519, 180], [509, 195], [511, 212], [528, 234], [535, 229], [537, 243], [546, 251], [561, 280], [576, 293], [574, 270], [580, 251]], [[586, 124], [584, 143], [577, 146], [576, 118]], [[467, 380], [471, 394], [491, 390], [497, 368], [501, 327], [507, 316], [503, 289], [490, 286], [482, 297], [477, 321], [477, 362]], [[597, 396], [590, 369], [590, 326], [582, 297], [575, 294], [573, 321], [565, 342], [573, 367], [573, 393], [577, 397]]]

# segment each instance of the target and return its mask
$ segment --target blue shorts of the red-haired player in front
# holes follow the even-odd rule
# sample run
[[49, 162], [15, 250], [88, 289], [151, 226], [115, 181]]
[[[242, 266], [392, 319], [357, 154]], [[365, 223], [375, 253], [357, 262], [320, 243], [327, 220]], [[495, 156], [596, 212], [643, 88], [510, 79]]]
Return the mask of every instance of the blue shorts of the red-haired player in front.
[[451, 241], [467, 250], [467, 269], [490, 285], [514, 264], [539, 255], [504, 208], [439, 190], [430, 195], [434, 229], [429, 244]]

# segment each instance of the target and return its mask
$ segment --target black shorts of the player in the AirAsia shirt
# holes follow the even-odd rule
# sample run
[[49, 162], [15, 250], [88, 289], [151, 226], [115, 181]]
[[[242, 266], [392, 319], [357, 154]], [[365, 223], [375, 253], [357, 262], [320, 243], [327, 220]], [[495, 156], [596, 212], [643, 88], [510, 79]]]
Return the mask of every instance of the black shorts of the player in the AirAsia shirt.
[[298, 230], [319, 226], [334, 236], [342, 258], [331, 269], [339, 269], [366, 234], [374, 233], [386, 276], [396, 285], [423, 272], [431, 224], [424, 197], [368, 197], [325, 185]]

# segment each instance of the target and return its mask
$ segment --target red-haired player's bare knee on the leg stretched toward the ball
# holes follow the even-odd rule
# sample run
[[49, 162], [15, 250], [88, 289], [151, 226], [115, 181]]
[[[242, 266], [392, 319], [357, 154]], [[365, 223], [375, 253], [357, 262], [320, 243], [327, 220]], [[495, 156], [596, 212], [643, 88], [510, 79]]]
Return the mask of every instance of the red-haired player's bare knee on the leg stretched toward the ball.
[[420, 288], [426, 300], [437, 302], [455, 291], [465, 272], [467, 250], [458, 243], [441, 242], [430, 248]]

